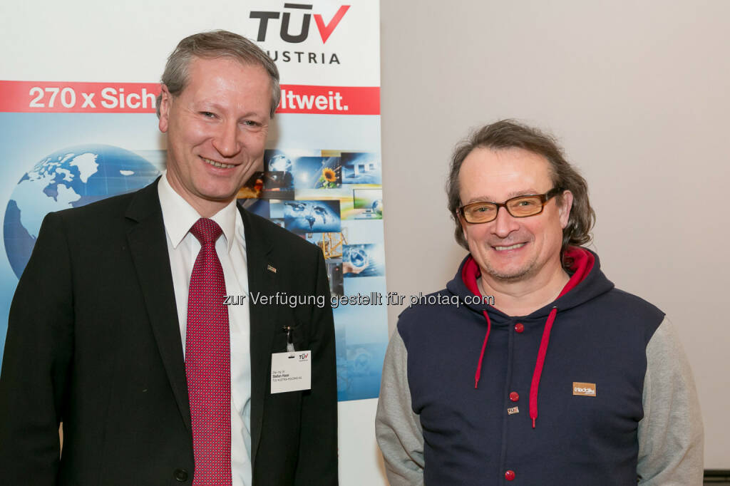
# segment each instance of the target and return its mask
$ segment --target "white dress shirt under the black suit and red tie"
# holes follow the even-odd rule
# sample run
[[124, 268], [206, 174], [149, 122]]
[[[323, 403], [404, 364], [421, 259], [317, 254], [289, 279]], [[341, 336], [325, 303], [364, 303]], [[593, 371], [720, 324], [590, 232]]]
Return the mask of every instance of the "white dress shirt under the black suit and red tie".
[[[193, 265], [201, 247], [198, 239], [190, 233], [190, 228], [201, 216], [170, 186], [166, 172], [157, 188], [167, 235], [167, 252], [170, 257], [184, 356], [188, 288]], [[218, 253], [220, 266], [223, 267], [226, 295], [234, 296], [233, 301], [238, 301], [238, 305], [227, 307], [231, 333], [231, 477], [233, 486], [250, 486], [251, 358], [246, 240], [235, 199], [210, 219], [223, 230], [223, 235], [215, 242], [215, 252]], [[239, 296], [246, 297], [240, 299]]]

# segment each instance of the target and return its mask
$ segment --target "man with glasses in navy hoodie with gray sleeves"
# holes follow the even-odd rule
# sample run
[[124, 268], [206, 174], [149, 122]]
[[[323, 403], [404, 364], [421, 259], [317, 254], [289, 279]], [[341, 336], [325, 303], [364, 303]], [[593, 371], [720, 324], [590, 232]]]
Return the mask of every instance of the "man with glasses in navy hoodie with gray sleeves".
[[664, 313], [618, 290], [590, 241], [583, 177], [502, 120], [457, 147], [447, 182], [469, 250], [400, 316], [376, 432], [399, 485], [702, 485], [702, 419]]

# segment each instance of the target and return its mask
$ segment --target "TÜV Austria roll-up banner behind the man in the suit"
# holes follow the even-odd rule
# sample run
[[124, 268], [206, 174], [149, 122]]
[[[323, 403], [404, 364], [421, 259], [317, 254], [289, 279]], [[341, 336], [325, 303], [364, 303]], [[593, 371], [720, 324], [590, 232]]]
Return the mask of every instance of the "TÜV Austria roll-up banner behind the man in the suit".
[[[94, 20], [83, 5], [80, 12], [73, 8], [64, 12], [68, 18], [55, 19], [58, 26], [80, 26], [76, 14], [82, 10], [92, 16], [85, 21]], [[239, 190], [239, 203], [320, 247], [334, 308], [338, 399], [376, 398], [388, 341], [378, 1], [248, 1], [225, 8], [223, 25], [188, 20], [190, 28], [180, 31], [180, 25], [160, 20], [153, 37], [164, 45], [139, 52], [145, 69], [135, 75], [134, 63], [123, 66], [128, 74], [116, 80], [109, 73], [120, 72], [120, 61], [104, 55], [57, 66], [16, 51], [9, 55], [0, 69], [0, 353], [12, 295], [43, 217], [138, 190], [161, 174], [165, 139], [155, 116], [164, 68], [160, 53], [172, 52], [188, 34], [226, 28], [255, 41], [281, 76], [281, 102], [263, 164]], [[63, 31], [33, 31], [45, 42], [64, 42], [58, 35]], [[4, 35], [8, 40], [12, 28]], [[98, 45], [112, 41], [119, 39], [89, 40], [99, 51]], [[158, 72], [150, 74], [147, 66], [154, 61]], [[278, 298], [296, 305], [296, 296]], [[351, 426], [342, 423], [342, 407], [340, 422], [341, 428]], [[374, 463], [372, 423], [353, 433], [360, 432], [369, 435], [363, 450]], [[348, 447], [341, 443], [340, 449]]]

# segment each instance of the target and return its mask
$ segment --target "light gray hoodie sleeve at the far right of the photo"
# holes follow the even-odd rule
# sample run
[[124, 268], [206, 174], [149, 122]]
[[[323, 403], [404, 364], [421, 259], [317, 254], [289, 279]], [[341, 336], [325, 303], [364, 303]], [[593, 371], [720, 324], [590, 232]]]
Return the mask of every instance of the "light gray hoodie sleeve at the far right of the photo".
[[702, 486], [702, 414], [687, 357], [666, 318], [652, 336], [646, 358], [639, 485]]

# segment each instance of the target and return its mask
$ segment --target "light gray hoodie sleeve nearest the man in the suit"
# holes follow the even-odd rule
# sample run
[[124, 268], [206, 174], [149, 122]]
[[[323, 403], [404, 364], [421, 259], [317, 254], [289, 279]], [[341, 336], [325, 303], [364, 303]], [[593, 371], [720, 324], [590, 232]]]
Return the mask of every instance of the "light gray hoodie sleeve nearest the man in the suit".
[[385, 352], [375, 436], [391, 486], [423, 485], [423, 430], [413, 413], [407, 376], [408, 352], [393, 332]]

